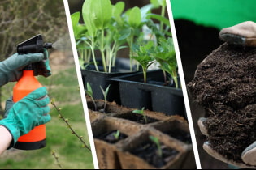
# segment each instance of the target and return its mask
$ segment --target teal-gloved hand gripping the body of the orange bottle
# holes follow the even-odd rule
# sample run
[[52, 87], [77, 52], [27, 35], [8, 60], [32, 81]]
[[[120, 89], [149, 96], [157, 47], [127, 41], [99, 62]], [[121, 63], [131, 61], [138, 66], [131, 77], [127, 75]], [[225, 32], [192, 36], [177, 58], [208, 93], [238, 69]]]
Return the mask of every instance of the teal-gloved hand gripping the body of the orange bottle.
[[5, 126], [12, 135], [11, 147], [20, 136], [28, 134], [37, 125], [50, 121], [50, 107], [47, 106], [49, 103], [46, 87], [32, 91], [16, 103], [11, 99], [7, 100], [5, 117], [0, 121], [0, 125]]

